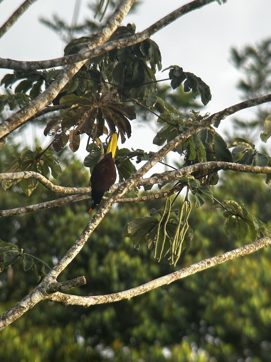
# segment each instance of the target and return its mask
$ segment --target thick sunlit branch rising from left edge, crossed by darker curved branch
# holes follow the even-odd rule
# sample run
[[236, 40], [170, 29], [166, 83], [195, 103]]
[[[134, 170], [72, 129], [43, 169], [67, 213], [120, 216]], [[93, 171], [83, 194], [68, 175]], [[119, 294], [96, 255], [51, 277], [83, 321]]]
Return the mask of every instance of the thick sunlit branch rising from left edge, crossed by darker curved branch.
[[[115, 10], [112, 16], [109, 18], [106, 26], [104, 26], [99, 33], [91, 39], [89, 49], [102, 45], [106, 42], [113, 32], [120, 25], [126, 14], [129, 12], [135, 0], [122, 0], [120, 6]], [[33, 101], [19, 110], [16, 114], [12, 115], [9, 119], [0, 124], [0, 139], [14, 131], [16, 128], [23, 125], [29, 120], [35, 113], [41, 110], [43, 107], [50, 104], [53, 99], [59, 94], [61, 89], [68, 83], [68, 81], [78, 72], [78, 70], [86, 63], [86, 59], [81, 62], [69, 64], [64, 70], [57, 76], [56, 80], [52, 82], [50, 87], [39, 94]]]

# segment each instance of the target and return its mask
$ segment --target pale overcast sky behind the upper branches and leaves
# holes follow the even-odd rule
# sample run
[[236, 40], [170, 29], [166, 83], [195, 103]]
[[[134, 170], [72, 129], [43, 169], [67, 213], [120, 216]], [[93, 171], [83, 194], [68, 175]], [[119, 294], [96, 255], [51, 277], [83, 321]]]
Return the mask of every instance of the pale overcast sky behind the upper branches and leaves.
[[[90, 17], [87, 4], [91, 1], [77, 1], [80, 3], [79, 21]], [[21, 3], [22, 0], [2, 1], [0, 23], [3, 24]], [[184, 0], [143, 0], [137, 13], [128, 15], [123, 25], [133, 22], [137, 31], [144, 30], [185, 3]], [[56, 13], [70, 24], [75, 4], [76, 0], [36, 1], [0, 39], [0, 56], [17, 60], [62, 56], [65, 44], [56, 33], [40, 24], [39, 18], [50, 19]], [[151, 38], [158, 43], [163, 68], [176, 64], [210, 86], [212, 100], [205, 111], [214, 113], [241, 100], [236, 89], [240, 74], [230, 63], [231, 47], [241, 49], [270, 37], [270, 15], [271, 0], [228, 0], [224, 5], [215, 2], [182, 16]], [[0, 70], [0, 78], [6, 72]], [[157, 75], [158, 79], [162, 77], [164, 73]], [[240, 116], [249, 118], [250, 112], [241, 111]], [[227, 127], [230, 124], [227, 119], [223, 122], [227, 122]], [[132, 129], [131, 141], [125, 143], [125, 147], [143, 148], [140, 133]], [[154, 151], [156, 147], [150, 143], [149, 150]]]

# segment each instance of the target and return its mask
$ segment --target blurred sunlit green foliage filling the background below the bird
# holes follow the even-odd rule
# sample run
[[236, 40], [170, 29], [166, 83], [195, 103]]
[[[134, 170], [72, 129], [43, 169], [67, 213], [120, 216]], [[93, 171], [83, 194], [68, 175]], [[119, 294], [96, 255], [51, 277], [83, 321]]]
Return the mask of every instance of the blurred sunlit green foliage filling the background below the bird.
[[[60, 178], [83, 186], [87, 172], [70, 155]], [[249, 212], [269, 223], [266, 184], [262, 176], [246, 174], [223, 178], [216, 198], [234, 198]], [[28, 198], [18, 186], [3, 191], [3, 208], [26, 205]], [[255, 192], [257, 190], [257, 192]], [[17, 200], [14, 198], [16, 191]], [[4, 197], [5, 192], [5, 197]], [[55, 198], [38, 185], [33, 203]], [[193, 201], [193, 200], [192, 200]], [[74, 293], [107, 294], [140, 285], [206, 257], [239, 247], [222, 232], [223, 216], [208, 211], [206, 203], [190, 216], [194, 241], [176, 268], [160, 264], [144, 245], [136, 251], [122, 237], [127, 220], [143, 217], [159, 202], [120, 204], [112, 209], [78, 257], [60, 275], [60, 281], [85, 275], [87, 284]], [[0, 219], [1, 235], [15, 241], [34, 256], [53, 266], [53, 261], [72, 246], [89, 218], [88, 201]], [[31, 230], [31, 232], [30, 232]], [[14, 239], [16, 238], [16, 239]], [[239, 258], [171, 285], [121, 301], [90, 308], [64, 307], [44, 301], [9, 325], [0, 335], [3, 361], [269, 361], [271, 348], [270, 248]], [[50, 256], [52, 255], [52, 257]], [[1, 275], [1, 312], [26, 295], [36, 283], [18, 261]], [[210, 359], [214, 357], [215, 359]], [[238, 359], [239, 358], [239, 359]]]

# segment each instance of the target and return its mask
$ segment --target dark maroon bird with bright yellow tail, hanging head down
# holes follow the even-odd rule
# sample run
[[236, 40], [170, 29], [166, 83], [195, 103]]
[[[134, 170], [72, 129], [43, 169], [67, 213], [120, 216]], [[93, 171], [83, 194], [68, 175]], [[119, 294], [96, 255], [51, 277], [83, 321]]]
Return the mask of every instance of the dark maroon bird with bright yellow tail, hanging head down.
[[108, 144], [106, 155], [93, 168], [90, 177], [91, 208], [89, 212], [99, 205], [103, 195], [114, 184], [117, 178], [115, 167], [115, 154], [117, 149], [117, 134], [113, 133]]

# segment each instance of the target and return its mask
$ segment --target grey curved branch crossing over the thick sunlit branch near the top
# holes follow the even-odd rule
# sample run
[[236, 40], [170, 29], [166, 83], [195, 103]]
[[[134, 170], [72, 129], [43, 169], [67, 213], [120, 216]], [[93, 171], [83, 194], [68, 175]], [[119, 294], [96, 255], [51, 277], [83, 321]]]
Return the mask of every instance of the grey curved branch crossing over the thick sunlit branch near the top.
[[[185, 4], [182, 7], [176, 9], [172, 13], [163, 17], [159, 21], [155, 22], [149, 28], [133, 35], [132, 37], [119, 39], [116, 41], [108, 41], [107, 43], [97, 46], [95, 49], [92, 49], [89, 44], [92, 45], [92, 41], [86, 44], [86, 47], [82, 51], [68, 56], [63, 56], [61, 58], [51, 59], [51, 60], [41, 60], [41, 61], [19, 61], [13, 59], [3, 59], [0, 58], [0, 68], [7, 68], [13, 70], [37, 70], [37, 69], [46, 69], [59, 66], [65, 66], [66, 64], [71, 64], [75, 62], [80, 62], [82, 60], [94, 58], [100, 54], [104, 54], [113, 49], [121, 49], [130, 45], [139, 43], [151, 35], [155, 34], [157, 31], [163, 29], [168, 24], [171, 24], [173, 21], [181, 17], [182, 15], [189, 13], [192, 10], [199, 9], [204, 5], [213, 3], [216, 0], [195, 0], [191, 3]], [[87, 50], [86, 50], [87, 48]]]

